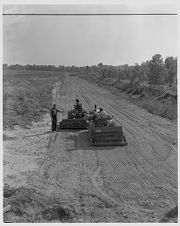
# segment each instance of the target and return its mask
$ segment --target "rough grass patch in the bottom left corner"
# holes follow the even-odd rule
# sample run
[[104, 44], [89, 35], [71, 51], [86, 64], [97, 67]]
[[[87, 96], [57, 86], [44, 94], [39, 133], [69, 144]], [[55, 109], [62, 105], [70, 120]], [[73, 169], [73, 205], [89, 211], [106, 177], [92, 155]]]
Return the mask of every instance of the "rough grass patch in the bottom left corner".
[[4, 186], [5, 206], [10, 205], [11, 214], [4, 214], [4, 222], [12, 223], [47, 223], [71, 222], [73, 211], [58, 199], [47, 197], [34, 188], [13, 188]]

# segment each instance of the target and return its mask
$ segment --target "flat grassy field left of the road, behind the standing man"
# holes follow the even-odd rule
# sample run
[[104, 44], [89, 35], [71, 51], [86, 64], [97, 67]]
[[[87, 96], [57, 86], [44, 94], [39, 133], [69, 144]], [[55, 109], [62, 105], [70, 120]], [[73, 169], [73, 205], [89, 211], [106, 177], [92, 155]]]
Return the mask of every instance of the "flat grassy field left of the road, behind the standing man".
[[3, 128], [26, 127], [49, 112], [60, 72], [3, 71]]

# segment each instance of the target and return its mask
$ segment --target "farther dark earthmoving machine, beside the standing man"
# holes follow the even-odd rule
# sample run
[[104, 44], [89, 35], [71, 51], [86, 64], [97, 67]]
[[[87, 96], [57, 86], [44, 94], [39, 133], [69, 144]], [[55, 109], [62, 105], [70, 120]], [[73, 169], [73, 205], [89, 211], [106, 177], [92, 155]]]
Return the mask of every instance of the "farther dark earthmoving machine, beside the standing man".
[[68, 111], [68, 118], [63, 119], [59, 124], [60, 129], [87, 129], [87, 113], [84, 110]]

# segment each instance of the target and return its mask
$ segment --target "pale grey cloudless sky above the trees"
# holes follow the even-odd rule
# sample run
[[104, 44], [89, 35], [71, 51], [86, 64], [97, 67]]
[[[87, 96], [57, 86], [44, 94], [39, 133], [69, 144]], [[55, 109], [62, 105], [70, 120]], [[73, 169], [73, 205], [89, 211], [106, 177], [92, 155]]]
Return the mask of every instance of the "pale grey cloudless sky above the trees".
[[3, 63], [108, 65], [142, 63], [160, 53], [177, 56], [176, 15], [52, 15], [54, 13], [176, 13], [172, 6], [6, 5]]

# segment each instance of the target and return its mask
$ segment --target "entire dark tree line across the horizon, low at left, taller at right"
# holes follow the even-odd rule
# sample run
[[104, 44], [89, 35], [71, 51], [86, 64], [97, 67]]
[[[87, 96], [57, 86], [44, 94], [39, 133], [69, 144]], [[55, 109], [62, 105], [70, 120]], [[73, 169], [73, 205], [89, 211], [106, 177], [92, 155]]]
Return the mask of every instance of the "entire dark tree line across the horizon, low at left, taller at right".
[[3, 64], [3, 69], [16, 70], [38, 70], [38, 71], [61, 71], [71, 73], [91, 73], [99, 74], [99, 79], [111, 79], [116, 81], [128, 79], [131, 83], [147, 82], [150, 86], [153, 85], [169, 85], [177, 83], [177, 57], [169, 56], [163, 60], [160, 54], [155, 54], [146, 62], [135, 65], [98, 65], [82, 66], [75, 65], [7, 65]]

